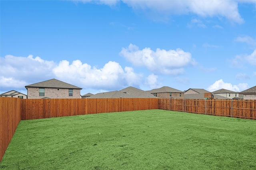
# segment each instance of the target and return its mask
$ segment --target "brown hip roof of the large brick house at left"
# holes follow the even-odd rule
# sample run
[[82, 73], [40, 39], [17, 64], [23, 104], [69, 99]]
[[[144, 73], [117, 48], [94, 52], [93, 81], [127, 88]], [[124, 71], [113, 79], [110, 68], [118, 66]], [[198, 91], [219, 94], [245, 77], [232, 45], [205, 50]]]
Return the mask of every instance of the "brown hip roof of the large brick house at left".
[[25, 86], [26, 89], [28, 89], [28, 87], [82, 89], [82, 88], [74, 86], [72, 84], [68, 84], [68, 83], [62, 82], [60, 80], [56, 80], [55, 78], [53, 78], [51, 80], [46, 80], [46, 81], [43, 81], [43, 82], [39, 82], [39, 83], [30, 84], [30, 85]]

